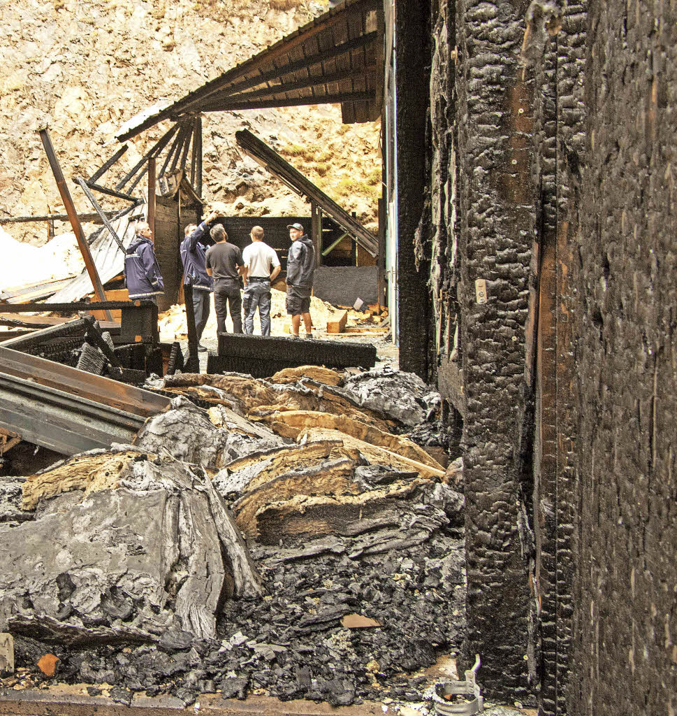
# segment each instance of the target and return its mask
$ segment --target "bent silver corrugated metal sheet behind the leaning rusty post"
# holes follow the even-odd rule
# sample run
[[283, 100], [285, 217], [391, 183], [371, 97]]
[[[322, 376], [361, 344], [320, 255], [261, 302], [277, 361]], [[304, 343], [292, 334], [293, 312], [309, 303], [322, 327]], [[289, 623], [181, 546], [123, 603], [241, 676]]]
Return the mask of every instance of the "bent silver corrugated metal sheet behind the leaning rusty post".
[[[135, 215], [143, 213], [145, 216], [145, 205], [135, 208], [134, 213]], [[129, 214], [122, 216], [114, 226], [115, 233], [120, 237], [125, 247], [132, 243], [132, 239], [135, 236], [135, 226], [136, 222], [130, 221]], [[114, 279], [117, 274], [122, 274], [125, 269], [125, 255], [120, 251], [120, 246], [117, 246], [117, 243], [106, 229], [89, 248], [92, 251], [92, 258], [97, 266], [97, 271], [99, 271], [99, 278], [102, 284]], [[82, 274], [76, 276], [67, 286], [64, 286], [64, 288], [53, 294], [51, 298], [47, 299], [47, 303], [58, 304], [79, 301], [87, 294], [91, 294], [93, 290], [92, 281], [89, 280], [87, 271], [82, 271]]]

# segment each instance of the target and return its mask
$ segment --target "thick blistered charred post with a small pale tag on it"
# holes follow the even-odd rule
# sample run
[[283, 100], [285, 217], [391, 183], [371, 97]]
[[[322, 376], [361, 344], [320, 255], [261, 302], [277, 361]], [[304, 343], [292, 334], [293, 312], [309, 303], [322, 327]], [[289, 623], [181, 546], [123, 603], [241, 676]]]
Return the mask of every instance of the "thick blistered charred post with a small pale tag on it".
[[[527, 5], [457, 3], [460, 341], [468, 569], [467, 656], [492, 698], [526, 699], [530, 536], [515, 463], [535, 223], [532, 107], [520, 48]], [[475, 281], [487, 284], [478, 303]]]

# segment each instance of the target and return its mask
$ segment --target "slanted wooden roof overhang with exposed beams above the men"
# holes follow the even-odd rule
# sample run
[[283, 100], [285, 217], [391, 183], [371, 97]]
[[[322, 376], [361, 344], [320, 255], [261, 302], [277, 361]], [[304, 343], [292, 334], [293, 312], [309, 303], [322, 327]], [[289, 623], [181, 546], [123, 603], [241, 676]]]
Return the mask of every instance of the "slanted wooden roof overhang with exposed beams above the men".
[[200, 112], [341, 104], [343, 121], [381, 115], [384, 84], [382, 0], [345, 0], [263, 52], [224, 72], [117, 136], [131, 139], [163, 120]]

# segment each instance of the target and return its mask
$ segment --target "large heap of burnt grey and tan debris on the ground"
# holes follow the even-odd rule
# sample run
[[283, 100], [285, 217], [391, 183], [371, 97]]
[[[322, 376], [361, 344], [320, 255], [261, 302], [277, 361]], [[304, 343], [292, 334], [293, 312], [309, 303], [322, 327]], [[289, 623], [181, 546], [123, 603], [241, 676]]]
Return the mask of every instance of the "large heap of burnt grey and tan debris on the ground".
[[0, 479], [0, 686], [422, 700], [464, 624], [439, 395], [311, 366], [145, 388], [171, 402], [132, 444]]

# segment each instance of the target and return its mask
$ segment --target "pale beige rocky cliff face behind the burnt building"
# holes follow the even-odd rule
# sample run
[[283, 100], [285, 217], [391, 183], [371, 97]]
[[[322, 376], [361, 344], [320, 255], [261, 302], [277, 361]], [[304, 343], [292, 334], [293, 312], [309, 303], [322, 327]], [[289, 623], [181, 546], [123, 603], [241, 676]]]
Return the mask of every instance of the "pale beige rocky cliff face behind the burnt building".
[[[67, 177], [89, 175], [117, 149], [112, 137], [122, 122], [157, 101], [182, 97], [325, 10], [309, 0], [0, 0], [0, 216], [45, 213], [48, 205], [62, 211], [38, 127], [49, 125]], [[293, 163], [295, 147], [312, 155], [313, 147], [326, 149], [328, 135], [335, 136], [331, 157], [321, 162], [323, 174], [311, 172], [311, 178], [321, 178], [363, 221], [374, 220], [378, 183], [344, 179], [374, 175], [376, 125], [344, 128], [338, 107], [205, 117], [205, 198], [229, 203], [234, 214], [257, 216], [309, 208], [242, 158], [233, 136], [241, 127]], [[130, 168], [161, 130], [132, 140], [113, 178]], [[82, 193], [72, 193], [78, 208], [89, 211]], [[9, 230], [31, 243], [46, 238], [40, 224]]]

